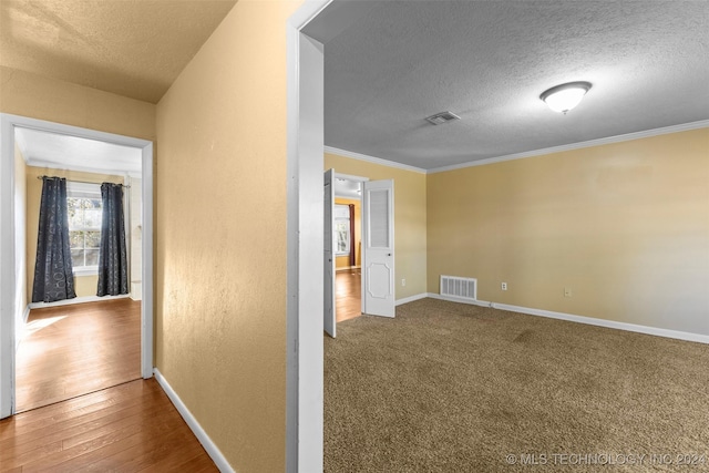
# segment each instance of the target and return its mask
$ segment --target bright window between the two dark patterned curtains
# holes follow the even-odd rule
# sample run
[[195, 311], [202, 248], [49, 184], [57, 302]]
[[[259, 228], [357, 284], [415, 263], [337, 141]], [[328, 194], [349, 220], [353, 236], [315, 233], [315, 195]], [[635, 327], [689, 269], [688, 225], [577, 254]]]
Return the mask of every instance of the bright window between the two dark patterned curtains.
[[69, 243], [75, 274], [95, 274], [101, 246], [102, 200], [99, 184], [66, 183]]

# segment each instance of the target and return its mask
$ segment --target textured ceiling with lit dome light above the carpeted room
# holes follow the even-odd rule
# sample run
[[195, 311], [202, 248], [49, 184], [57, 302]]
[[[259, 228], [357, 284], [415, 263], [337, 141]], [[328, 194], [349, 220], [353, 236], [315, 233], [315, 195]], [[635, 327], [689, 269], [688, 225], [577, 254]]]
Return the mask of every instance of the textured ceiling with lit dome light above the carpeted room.
[[[709, 2], [369, 7], [325, 44], [332, 147], [431, 169], [709, 119]], [[538, 99], [571, 81], [567, 115]]]

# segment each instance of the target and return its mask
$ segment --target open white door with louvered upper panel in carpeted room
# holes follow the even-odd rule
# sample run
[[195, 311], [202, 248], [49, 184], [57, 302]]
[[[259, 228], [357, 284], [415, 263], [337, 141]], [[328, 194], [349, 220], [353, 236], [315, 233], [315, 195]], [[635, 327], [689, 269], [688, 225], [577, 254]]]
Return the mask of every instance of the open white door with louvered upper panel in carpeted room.
[[362, 183], [362, 312], [394, 317], [394, 182]]

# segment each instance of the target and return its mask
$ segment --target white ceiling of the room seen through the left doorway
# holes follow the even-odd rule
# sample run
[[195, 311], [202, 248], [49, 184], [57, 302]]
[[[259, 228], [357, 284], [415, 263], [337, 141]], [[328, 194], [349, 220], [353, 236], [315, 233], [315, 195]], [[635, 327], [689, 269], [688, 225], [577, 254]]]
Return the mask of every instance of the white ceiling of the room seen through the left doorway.
[[131, 176], [142, 173], [142, 151], [136, 147], [19, 126], [14, 138], [31, 166]]

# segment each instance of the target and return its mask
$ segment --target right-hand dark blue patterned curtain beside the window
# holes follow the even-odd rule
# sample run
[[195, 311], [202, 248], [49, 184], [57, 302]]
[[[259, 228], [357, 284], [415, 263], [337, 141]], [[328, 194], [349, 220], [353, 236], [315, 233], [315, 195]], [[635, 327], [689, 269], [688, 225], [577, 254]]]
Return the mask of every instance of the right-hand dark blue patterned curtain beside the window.
[[99, 251], [99, 288], [96, 296], [129, 294], [129, 263], [123, 219], [123, 186], [101, 184], [103, 220]]

